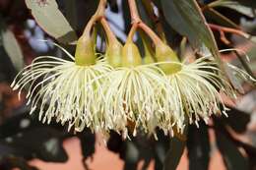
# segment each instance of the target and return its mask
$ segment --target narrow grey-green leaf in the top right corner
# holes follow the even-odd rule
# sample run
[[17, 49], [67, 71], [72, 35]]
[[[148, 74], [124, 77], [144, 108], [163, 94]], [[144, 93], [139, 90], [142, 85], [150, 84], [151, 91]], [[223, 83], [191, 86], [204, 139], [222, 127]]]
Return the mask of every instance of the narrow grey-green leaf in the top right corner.
[[[246, 5], [246, 4], [245, 4]], [[255, 16], [255, 9], [252, 9], [251, 6], [245, 6], [242, 2], [239, 1], [229, 1], [229, 0], [219, 0], [215, 3], [210, 4], [211, 7], [226, 7], [232, 10], [237, 11], [245, 16], [254, 18]]]

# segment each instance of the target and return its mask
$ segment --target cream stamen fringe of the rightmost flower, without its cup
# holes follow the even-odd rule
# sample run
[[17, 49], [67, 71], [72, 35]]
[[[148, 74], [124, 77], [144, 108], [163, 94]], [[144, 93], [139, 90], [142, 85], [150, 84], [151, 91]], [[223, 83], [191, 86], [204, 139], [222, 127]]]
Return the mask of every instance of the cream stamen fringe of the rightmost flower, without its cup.
[[221, 105], [225, 114], [226, 107], [219, 91], [235, 95], [214, 60], [202, 57], [190, 64], [180, 64], [181, 70], [169, 75], [168, 79], [174, 88], [182, 120], [188, 117], [189, 122], [196, 125], [200, 119], [207, 123], [212, 114], [220, 113]]

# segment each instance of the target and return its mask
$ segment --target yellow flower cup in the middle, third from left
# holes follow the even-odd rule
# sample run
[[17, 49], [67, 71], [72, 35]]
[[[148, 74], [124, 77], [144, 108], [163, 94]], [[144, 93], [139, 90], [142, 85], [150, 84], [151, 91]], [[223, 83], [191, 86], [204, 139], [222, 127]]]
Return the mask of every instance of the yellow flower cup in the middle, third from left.
[[139, 66], [142, 64], [142, 57], [138, 47], [133, 42], [126, 42], [122, 49], [122, 66]]

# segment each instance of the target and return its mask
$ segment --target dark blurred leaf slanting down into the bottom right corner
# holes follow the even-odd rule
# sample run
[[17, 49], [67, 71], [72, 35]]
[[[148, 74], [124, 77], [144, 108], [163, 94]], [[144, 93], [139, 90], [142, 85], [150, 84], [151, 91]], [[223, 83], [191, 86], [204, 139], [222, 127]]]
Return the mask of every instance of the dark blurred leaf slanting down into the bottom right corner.
[[225, 137], [224, 134], [216, 131], [216, 140], [227, 170], [249, 169], [248, 159], [241, 154], [237, 146]]

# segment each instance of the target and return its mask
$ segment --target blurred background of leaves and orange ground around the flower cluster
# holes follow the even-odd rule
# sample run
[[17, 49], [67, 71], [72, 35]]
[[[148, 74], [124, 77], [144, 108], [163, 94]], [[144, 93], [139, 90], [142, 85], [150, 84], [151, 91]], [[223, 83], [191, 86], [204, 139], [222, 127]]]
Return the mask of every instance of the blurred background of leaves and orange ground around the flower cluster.
[[[27, 6], [32, 1], [40, 9], [37, 12]], [[103, 141], [90, 130], [74, 134], [68, 132], [66, 126], [43, 125], [36, 113], [29, 115], [31, 108], [26, 105], [26, 91], [19, 99], [18, 92], [10, 87], [15, 76], [36, 56], [65, 58], [52, 42], [74, 54], [75, 45], [72, 44], [81, 35], [97, 5], [96, 0], [57, 0], [58, 9], [43, 10], [43, 6], [53, 1], [0, 0], [0, 170], [161, 170], [163, 166], [166, 170], [176, 166], [178, 170], [256, 169], [256, 88], [234, 78], [234, 83], [243, 91], [236, 100], [223, 96], [229, 108], [227, 118], [213, 117], [209, 125], [201, 122], [199, 129], [190, 125], [185, 136], [172, 139], [159, 131], [159, 141], [143, 133], [131, 140], [122, 140], [111, 133], [109, 140]], [[210, 24], [219, 49], [237, 48], [248, 55], [239, 51], [224, 52], [224, 62], [255, 75], [255, 0], [198, 0], [198, 12], [186, 8], [192, 8], [192, 2], [137, 1], [145, 23], [163, 35], [179, 56], [206, 52], [195, 50], [193, 43], [197, 42], [191, 38], [193, 34], [199, 38], [204, 36], [200, 26], [203, 22], [197, 25], [201, 20], [200, 12]], [[119, 40], [124, 42], [130, 28], [127, 1], [109, 0], [106, 19]], [[59, 26], [55, 26], [55, 22]], [[67, 33], [55, 32], [56, 27]], [[188, 34], [184, 33], [186, 28]], [[99, 52], [105, 47], [102, 34], [101, 30], [97, 36]], [[139, 47], [143, 46], [139, 36], [135, 40]]]

